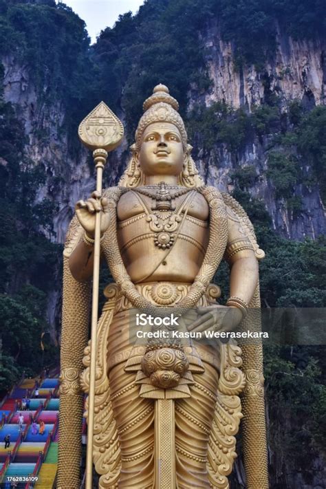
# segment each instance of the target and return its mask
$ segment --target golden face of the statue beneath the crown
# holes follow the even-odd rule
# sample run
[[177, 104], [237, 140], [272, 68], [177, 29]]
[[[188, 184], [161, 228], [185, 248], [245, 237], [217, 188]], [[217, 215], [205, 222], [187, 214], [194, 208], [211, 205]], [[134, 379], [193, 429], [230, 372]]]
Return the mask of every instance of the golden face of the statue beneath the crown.
[[153, 122], [144, 130], [140, 146], [144, 175], [180, 175], [184, 149], [179, 129], [170, 122]]

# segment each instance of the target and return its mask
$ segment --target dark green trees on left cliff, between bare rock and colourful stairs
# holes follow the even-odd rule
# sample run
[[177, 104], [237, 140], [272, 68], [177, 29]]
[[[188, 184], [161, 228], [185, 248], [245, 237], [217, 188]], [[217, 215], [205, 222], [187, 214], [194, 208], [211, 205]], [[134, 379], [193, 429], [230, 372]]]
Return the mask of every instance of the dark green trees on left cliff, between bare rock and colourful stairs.
[[[0, 83], [2, 89], [2, 76]], [[60, 248], [41, 231], [52, 232], [56, 209], [46, 199], [34, 202], [45, 173], [26, 157], [26, 144], [21, 120], [0, 93], [1, 389], [22, 369], [33, 373], [41, 368], [41, 332], [48, 328], [46, 294], [52, 290]], [[51, 347], [48, 353], [45, 362], [53, 361]]]

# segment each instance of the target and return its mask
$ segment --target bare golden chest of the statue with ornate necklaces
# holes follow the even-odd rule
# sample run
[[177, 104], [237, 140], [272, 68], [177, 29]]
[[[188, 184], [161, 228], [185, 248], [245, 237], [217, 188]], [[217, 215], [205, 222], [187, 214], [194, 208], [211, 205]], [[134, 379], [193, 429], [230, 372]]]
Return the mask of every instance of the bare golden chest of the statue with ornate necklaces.
[[[140, 254], [156, 254], [182, 241], [183, 256], [197, 246], [204, 254], [208, 238], [209, 208], [202, 195], [192, 192], [159, 201], [130, 192], [118, 202], [118, 242], [122, 256], [130, 260]], [[162, 205], [160, 205], [162, 202]], [[157, 205], [158, 204], [158, 205]], [[185, 241], [186, 240], [186, 241]]]

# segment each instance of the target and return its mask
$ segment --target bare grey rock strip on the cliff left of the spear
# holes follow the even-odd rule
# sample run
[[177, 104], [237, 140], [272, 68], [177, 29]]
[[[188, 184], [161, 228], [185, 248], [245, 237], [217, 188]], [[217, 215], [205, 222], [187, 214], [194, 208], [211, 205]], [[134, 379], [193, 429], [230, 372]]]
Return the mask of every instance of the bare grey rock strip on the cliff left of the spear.
[[63, 243], [74, 204], [94, 188], [87, 153], [80, 151], [76, 158], [67, 149], [63, 104], [60, 101], [49, 104], [37, 94], [32, 74], [13, 57], [4, 58], [2, 63], [5, 99], [12, 102], [19, 118], [23, 119], [29, 140], [28, 156], [34, 164], [42, 165], [47, 175], [46, 184], [39, 189], [36, 199], [41, 201], [47, 197], [59, 204], [60, 210], [53, 223], [54, 236], [49, 237]]

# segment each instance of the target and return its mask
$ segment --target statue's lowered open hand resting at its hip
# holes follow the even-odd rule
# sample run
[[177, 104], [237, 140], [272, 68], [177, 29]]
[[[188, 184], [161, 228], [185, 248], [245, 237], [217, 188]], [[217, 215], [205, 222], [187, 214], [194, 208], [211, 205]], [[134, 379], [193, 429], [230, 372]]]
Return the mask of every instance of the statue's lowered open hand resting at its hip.
[[197, 307], [196, 312], [199, 317], [188, 326], [188, 331], [232, 331], [239, 326], [242, 319], [240, 309], [224, 305]]

